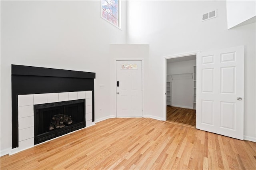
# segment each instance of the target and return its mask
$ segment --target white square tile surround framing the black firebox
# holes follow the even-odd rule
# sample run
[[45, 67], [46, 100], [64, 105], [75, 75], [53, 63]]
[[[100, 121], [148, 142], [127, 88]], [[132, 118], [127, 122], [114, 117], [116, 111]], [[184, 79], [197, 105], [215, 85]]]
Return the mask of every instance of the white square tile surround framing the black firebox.
[[18, 151], [34, 146], [34, 105], [86, 99], [86, 127], [92, 122], [92, 91], [18, 95]]

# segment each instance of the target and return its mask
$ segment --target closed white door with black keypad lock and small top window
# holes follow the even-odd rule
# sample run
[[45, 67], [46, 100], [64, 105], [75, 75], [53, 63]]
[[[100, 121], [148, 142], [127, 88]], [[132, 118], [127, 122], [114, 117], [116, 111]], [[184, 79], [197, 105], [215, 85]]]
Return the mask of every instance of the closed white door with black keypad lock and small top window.
[[116, 116], [142, 117], [142, 61], [116, 61]]

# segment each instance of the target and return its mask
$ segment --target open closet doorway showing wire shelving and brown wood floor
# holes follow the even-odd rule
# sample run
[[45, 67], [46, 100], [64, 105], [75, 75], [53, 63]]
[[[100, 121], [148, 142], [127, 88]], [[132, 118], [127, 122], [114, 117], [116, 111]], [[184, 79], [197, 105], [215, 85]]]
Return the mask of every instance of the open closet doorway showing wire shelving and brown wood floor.
[[196, 54], [166, 59], [166, 121], [196, 127]]

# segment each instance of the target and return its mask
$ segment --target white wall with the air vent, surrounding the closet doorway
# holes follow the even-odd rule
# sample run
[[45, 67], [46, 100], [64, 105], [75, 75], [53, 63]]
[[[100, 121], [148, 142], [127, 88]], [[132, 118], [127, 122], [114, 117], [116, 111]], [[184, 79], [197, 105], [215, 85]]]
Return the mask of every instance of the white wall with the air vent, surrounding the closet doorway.
[[[225, 1], [129, 1], [128, 7], [128, 42], [150, 44], [145, 112], [164, 117], [164, 56], [244, 45], [244, 135], [256, 140], [255, 24], [227, 30]], [[215, 9], [216, 18], [201, 22]]]

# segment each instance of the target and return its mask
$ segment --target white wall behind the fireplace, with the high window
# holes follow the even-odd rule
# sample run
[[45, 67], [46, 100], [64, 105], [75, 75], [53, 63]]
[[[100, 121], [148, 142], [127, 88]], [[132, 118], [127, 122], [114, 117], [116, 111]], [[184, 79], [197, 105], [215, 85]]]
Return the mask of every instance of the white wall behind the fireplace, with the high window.
[[122, 30], [100, 12], [100, 1], [1, 1], [1, 154], [12, 146], [11, 64], [95, 72], [95, 120], [111, 115], [109, 44], [126, 41], [126, 2]]

